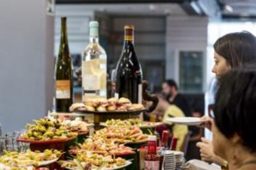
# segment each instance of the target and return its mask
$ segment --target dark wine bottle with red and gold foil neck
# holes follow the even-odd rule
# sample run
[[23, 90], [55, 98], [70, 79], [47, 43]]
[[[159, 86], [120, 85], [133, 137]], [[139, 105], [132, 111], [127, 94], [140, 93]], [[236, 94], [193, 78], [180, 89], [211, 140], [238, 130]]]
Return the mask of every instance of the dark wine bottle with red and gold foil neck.
[[142, 103], [142, 68], [134, 49], [134, 26], [124, 27], [124, 47], [116, 67], [116, 92], [119, 98]]

